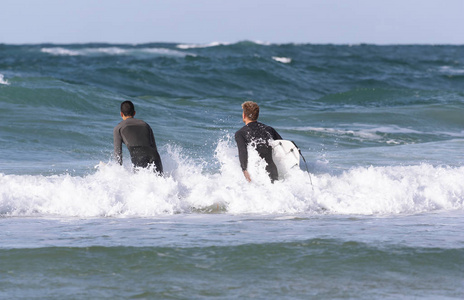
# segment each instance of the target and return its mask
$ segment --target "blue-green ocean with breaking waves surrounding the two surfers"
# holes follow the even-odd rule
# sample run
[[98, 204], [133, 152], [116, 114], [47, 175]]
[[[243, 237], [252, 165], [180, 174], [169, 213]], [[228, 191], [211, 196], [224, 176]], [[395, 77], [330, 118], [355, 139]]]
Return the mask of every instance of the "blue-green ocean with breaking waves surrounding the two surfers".
[[[113, 162], [124, 100], [164, 176]], [[464, 297], [464, 46], [0, 44], [0, 103], [2, 299]]]

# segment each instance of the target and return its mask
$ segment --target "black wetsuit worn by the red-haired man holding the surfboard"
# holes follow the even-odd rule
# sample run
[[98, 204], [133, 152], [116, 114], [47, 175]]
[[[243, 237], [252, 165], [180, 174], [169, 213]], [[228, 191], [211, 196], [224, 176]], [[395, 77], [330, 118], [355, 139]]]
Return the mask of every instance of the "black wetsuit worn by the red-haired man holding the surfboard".
[[260, 157], [266, 163], [266, 171], [269, 173], [271, 180], [277, 180], [279, 173], [277, 167], [272, 160], [272, 147], [269, 145], [269, 140], [281, 140], [282, 137], [271, 126], [267, 126], [260, 122], [250, 122], [243, 126], [235, 133], [235, 141], [238, 147], [238, 157], [240, 166], [245, 171], [248, 167], [248, 145], [253, 145]]

